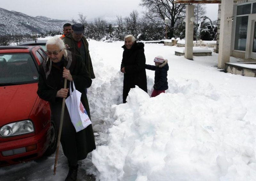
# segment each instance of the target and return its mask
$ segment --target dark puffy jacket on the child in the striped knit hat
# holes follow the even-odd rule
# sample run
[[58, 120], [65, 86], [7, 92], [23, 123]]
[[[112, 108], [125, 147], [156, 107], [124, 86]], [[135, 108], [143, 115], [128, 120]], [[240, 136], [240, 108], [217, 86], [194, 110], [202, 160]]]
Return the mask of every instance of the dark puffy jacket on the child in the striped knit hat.
[[155, 84], [154, 89], [158, 91], [165, 91], [168, 89], [167, 71], [169, 70], [168, 61], [164, 60], [159, 66], [146, 64], [146, 69], [155, 70]]

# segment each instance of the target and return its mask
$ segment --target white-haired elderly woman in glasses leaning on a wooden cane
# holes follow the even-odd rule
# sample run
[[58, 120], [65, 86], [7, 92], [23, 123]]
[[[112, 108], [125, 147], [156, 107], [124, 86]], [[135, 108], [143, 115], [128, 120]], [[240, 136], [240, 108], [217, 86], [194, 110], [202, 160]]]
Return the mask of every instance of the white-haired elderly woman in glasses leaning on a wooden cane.
[[[67, 79], [69, 85], [69, 82], [73, 81], [76, 90], [82, 93], [81, 102], [90, 118], [85, 88], [91, 86], [92, 80], [85, 68], [82, 57], [66, 50], [63, 41], [59, 37], [50, 38], [46, 42], [46, 49], [48, 57], [39, 67], [37, 94], [40, 98], [50, 102], [52, 119], [56, 125], [57, 133], [61, 133], [60, 143], [69, 166], [65, 181], [75, 181], [78, 160], [85, 159], [87, 154], [96, 146], [91, 124], [76, 132], [63, 101], [69, 96], [69, 91], [64, 87], [64, 82]], [[61, 112], [63, 112], [63, 116], [61, 116]], [[60, 125], [62, 126], [60, 127]]]

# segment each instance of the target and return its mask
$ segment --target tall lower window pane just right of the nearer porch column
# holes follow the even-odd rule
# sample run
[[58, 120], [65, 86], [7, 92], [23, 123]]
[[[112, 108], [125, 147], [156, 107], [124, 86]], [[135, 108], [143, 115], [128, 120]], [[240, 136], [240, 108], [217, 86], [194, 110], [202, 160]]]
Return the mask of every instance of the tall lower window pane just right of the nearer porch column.
[[236, 17], [235, 50], [245, 51], [248, 16]]

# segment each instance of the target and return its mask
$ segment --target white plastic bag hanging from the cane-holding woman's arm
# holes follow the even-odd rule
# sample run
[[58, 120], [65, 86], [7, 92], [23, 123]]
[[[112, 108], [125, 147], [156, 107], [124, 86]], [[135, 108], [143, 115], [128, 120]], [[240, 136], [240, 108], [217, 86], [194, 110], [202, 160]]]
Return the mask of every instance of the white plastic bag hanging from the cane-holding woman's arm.
[[74, 81], [73, 83], [73, 91], [71, 88], [71, 82], [69, 83], [69, 96], [66, 98], [65, 103], [68, 108], [68, 113], [73, 123], [76, 132], [81, 131], [86, 128], [88, 125], [92, 124], [84, 106], [81, 102], [82, 93], [76, 90]]

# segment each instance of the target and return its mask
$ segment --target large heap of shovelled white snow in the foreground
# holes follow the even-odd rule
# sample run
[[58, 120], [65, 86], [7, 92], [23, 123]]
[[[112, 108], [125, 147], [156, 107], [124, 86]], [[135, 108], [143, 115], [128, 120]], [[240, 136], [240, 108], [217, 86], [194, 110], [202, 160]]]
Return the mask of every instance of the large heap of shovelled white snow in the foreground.
[[107, 145], [92, 153], [97, 178], [253, 180], [256, 127], [244, 119], [240, 98], [209, 95], [212, 89], [192, 81], [156, 98], [132, 89], [128, 103], [111, 108]]

